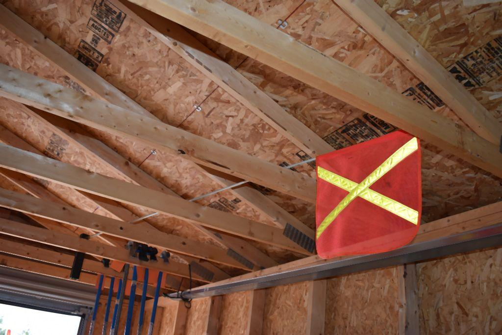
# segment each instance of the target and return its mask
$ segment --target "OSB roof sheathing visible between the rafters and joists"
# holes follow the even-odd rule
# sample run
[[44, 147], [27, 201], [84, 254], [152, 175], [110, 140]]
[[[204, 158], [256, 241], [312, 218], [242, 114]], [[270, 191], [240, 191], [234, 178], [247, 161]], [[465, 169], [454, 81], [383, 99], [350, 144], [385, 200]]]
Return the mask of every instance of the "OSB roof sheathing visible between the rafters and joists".
[[[107, 43], [103, 39], [93, 39], [88, 28], [94, 3], [91, 0], [2, 3], [76, 57], [84, 59], [83, 50], [89, 50], [88, 46], [94, 48], [97, 51], [92, 63], [95, 72], [162, 121], [277, 164], [291, 164], [308, 157], [130, 17], [116, 27], [117, 32], [113, 32], [113, 39]], [[434, 93], [331, 1], [228, 3], [274, 27], [279, 26], [278, 20], [286, 20], [287, 27], [278, 29], [451, 117], [452, 122], [461, 122]], [[378, 3], [444, 67], [455, 73], [483, 106], [499, 120], [502, 118], [502, 20], [499, 19], [502, 7], [499, 4], [464, 7], [460, 0]], [[335, 149], [396, 129], [277, 70], [192, 34]], [[85, 92], [11, 33], [0, 29], [0, 35], [0, 62]], [[94, 46], [91, 45], [93, 41]], [[0, 105], [3, 108], [0, 124], [33, 147], [84, 169], [124, 180], [85, 152], [78, 151], [43, 118], [28, 113], [26, 107], [6, 106]], [[198, 165], [179, 155], [160, 150], [152, 154], [155, 148], [142, 143], [90, 128], [86, 130], [185, 199], [221, 187]], [[314, 174], [309, 165], [296, 170], [309, 176]], [[490, 204], [502, 197], [500, 179], [427, 143], [423, 147], [422, 176], [423, 219], [426, 222]], [[110, 216], [82, 199], [76, 191], [51, 183], [44, 183], [44, 186], [73, 206]], [[256, 187], [268, 199], [314, 228], [313, 204]], [[263, 212], [231, 191], [198, 203], [274, 225]], [[125, 207], [137, 215], [146, 213], [133, 206]], [[159, 215], [149, 222], [166, 232], [216, 244], [183, 220]], [[250, 243], [281, 263], [300, 257], [263, 243]]]

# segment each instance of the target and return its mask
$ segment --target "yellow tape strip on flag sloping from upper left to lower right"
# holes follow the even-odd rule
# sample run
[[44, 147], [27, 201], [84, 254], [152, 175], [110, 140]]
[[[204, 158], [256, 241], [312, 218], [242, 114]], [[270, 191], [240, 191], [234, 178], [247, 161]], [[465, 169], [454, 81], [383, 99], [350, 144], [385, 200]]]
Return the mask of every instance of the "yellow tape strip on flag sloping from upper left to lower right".
[[[349, 179], [343, 178], [331, 171], [325, 170], [318, 166], [317, 174], [319, 178], [334, 185], [338, 186], [340, 189], [343, 189], [347, 192], [352, 191], [357, 186], [357, 183], [352, 182]], [[384, 196], [381, 193], [373, 191], [371, 189], [366, 189], [359, 197], [370, 202], [373, 205], [382, 207], [383, 209], [413, 223], [418, 224], [418, 212], [413, 208], [410, 208], [406, 205], [401, 204], [399, 201], [393, 200], [389, 197]]]

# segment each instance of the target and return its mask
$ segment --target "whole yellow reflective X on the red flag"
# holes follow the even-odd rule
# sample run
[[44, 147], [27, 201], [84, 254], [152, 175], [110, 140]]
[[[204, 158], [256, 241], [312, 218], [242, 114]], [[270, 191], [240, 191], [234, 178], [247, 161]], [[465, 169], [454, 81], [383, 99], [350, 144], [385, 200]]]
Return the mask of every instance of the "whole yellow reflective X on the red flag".
[[345, 198], [324, 218], [319, 227], [317, 227], [316, 239], [321, 236], [322, 232], [336, 219], [336, 217], [343, 211], [348, 204], [355, 198], [361, 197], [370, 203], [382, 207], [383, 209], [400, 216], [401, 218], [413, 223], [418, 224], [418, 212], [408, 206], [401, 204], [398, 201], [390, 199], [378, 192], [370, 190], [369, 187], [376, 181], [382, 178], [386, 173], [391, 171], [394, 166], [399, 164], [403, 159], [418, 149], [418, 140], [416, 137], [409, 140], [406, 144], [400, 147], [389, 158], [387, 158], [378, 168], [370, 173], [361, 183], [357, 184], [351, 180], [338, 176], [328, 170], [318, 166], [317, 175], [322, 180], [335, 185], [348, 194]]

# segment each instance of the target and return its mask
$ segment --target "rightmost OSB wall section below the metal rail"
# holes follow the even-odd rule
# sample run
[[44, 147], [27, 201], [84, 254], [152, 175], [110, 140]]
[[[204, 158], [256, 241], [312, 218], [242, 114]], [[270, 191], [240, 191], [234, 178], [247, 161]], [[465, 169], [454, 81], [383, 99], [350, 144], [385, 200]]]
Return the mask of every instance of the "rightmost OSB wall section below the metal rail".
[[420, 333], [502, 332], [502, 248], [419, 263]]

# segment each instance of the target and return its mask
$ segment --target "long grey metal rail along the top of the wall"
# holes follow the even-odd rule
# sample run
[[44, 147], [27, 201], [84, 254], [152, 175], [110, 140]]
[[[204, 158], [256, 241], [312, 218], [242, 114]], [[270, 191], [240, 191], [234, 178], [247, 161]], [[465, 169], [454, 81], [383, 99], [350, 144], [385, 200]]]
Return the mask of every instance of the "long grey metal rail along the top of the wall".
[[[286, 285], [387, 266], [418, 262], [499, 245], [502, 245], [502, 223], [462, 232], [456, 235], [409, 244], [385, 253], [334, 259], [326, 263], [305, 266], [299, 269], [222, 283], [221, 285], [212, 287], [196, 288], [192, 291], [184, 292], [183, 297], [201, 298]], [[170, 298], [175, 298], [176, 293], [169, 294], [168, 296]]]

